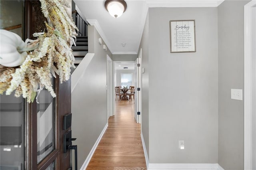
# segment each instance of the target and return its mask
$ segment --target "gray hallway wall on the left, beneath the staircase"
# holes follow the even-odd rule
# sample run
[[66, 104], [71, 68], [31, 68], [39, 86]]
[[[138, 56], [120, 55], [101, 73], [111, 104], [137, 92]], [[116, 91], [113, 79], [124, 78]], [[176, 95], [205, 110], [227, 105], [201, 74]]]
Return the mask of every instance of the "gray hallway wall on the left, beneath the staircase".
[[78, 145], [78, 169], [107, 123], [106, 55], [112, 57], [98, 43], [100, 35], [94, 26], [88, 26], [88, 32], [89, 50], [95, 55], [72, 92], [72, 136], [77, 138], [73, 143]]

